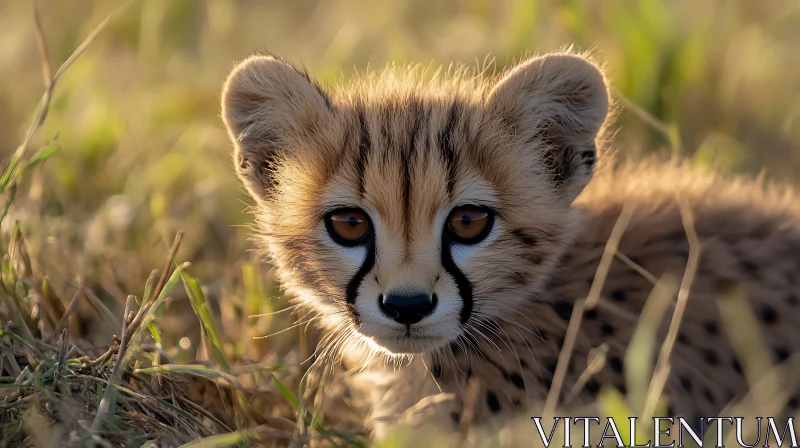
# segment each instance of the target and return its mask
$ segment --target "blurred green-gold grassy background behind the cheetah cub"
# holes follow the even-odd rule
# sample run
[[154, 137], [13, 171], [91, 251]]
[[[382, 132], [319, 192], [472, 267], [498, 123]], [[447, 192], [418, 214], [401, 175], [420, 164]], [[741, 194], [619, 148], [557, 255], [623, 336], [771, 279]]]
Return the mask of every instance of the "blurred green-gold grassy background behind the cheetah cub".
[[[58, 67], [120, 2], [40, 0]], [[0, 1], [0, 156], [22, 140], [44, 91], [32, 2]], [[33, 149], [58, 151], [24, 179], [4, 221], [65, 304], [89, 286], [112, 311], [141, 296], [178, 229], [238, 358], [292, 352], [286, 306], [247, 240], [250, 202], [219, 118], [234, 61], [269, 50], [323, 85], [387, 62], [482, 64], [575, 44], [607, 62], [623, 98], [615, 149], [798, 183], [800, 2], [796, 0], [140, 0], [65, 74]], [[162, 317], [176, 359], [197, 354], [181, 292]], [[96, 316], [88, 303], [81, 313]], [[117, 314], [119, 315], [119, 314]], [[83, 328], [108, 344], [111, 325]], [[237, 334], [233, 334], [237, 333]], [[183, 339], [182, 339], [183, 338]], [[287, 355], [288, 356], [288, 355]]]

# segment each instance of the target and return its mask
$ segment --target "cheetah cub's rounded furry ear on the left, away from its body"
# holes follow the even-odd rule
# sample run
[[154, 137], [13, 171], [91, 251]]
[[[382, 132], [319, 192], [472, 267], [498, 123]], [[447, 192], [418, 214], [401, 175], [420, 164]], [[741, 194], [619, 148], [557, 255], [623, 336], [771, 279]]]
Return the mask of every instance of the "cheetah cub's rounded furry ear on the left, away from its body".
[[222, 118], [233, 140], [236, 174], [258, 201], [273, 171], [299, 136], [330, 112], [307, 74], [271, 56], [251, 56], [233, 69], [222, 91]]

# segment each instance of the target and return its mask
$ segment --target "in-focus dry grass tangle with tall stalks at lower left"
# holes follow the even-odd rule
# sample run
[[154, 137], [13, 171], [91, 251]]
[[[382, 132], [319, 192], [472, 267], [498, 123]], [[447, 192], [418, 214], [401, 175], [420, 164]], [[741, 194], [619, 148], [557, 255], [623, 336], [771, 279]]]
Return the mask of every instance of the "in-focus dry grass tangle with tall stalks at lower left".
[[[13, 205], [21, 176], [46, 161], [57, 149], [57, 145], [48, 143], [28, 155], [31, 140], [47, 117], [60, 77], [113, 18], [109, 15], [103, 20], [51, 77], [44, 30], [38, 10], [34, 11], [46, 90], [24, 141], [0, 176], [0, 194], [7, 201], [0, 222]], [[0, 385], [6, 391], [0, 405], [3, 446], [69, 443], [70, 446], [207, 447], [262, 443], [266, 437], [297, 440], [291, 430], [294, 422], [277, 416], [278, 407], [251, 408], [256, 395], [275, 395], [274, 391], [259, 386], [263, 383], [261, 377], [272, 378], [283, 399], [291, 405], [289, 409], [298, 408], [299, 402], [275, 376], [282, 366], [254, 364], [237, 369], [230, 363], [205, 293], [186, 272], [190, 263], [175, 264], [183, 238], [184, 232], [179, 231], [155, 286], [151, 280], [156, 277], [151, 276], [141, 299], [128, 296], [121, 319], [115, 319], [101, 301], [94, 301], [100, 314], [110, 317], [112, 327], [121, 322], [121, 328], [120, 336], [109, 341], [108, 350], [93, 358], [78, 348], [67, 322], [75, 317], [72, 313], [81, 296], [91, 300], [94, 294], [90, 296], [79, 284], [65, 308], [54, 296], [47, 278], [33, 268], [19, 224], [14, 225], [10, 244], [2, 248], [0, 316], [4, 324], [0, 329], [3, 346], [0, 374], [12, 374], [0, 376]], [[202, 346], [211, 362], [172, 363], [164, 351], [161, 330], [155, 320], [163, 314], [171, 300], [170, 291], [179, 283], [183, 284], [197, 317]], [[152, 342], [151, 346], [145, 341]], [[242, 381], [243, 376], [250, 381]], [[216, 389], [216, 393], [196, 398], [203, 389]], [[247, 427], [242, 428], [243, 424]], [[354, 434], [328, 432], [318, 422], [315, 429], [318, 433], [306, 440], [322, 436], [334, 445], [334, 437], [356, 440]]]

